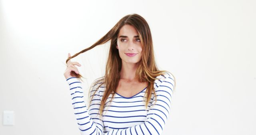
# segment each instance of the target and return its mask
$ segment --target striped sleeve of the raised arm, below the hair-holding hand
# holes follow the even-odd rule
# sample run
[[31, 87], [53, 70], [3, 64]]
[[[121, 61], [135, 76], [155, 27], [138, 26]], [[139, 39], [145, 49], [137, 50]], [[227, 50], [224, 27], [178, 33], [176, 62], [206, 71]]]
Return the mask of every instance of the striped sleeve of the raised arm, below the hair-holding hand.
[[[102, 135], [103, 122], [102, 120], [100, 120], [99, 115], [95, 115], [93, 113], [89, 115], [86, 103], [84, 102], [84, 93], [81, 87], [81, 82], [76, 77], [70, 77], [66, 79], [66, 81], [68, 82], [70, 87], [74, 114], [81, 135]], [[94, 89], [94, 87], [92, 89]], [[93, 101], [94, 104], [100, 103], [99, 92], [93, 97]], [[90, 109], [89, 107], [89, 110], [93, 109]]]

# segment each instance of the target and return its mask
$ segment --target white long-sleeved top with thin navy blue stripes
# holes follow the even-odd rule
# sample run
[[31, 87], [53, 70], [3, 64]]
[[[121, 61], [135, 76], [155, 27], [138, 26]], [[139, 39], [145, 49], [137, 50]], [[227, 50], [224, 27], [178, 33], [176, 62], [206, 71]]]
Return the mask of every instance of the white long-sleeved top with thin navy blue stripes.
[[[174, 77], [165, 72], [156, 78], [154, 89], [157, 102], [152, 93], [146, 109], [144, 102], [146, 88], [132, 97], [123, 97], [116, 93], [111, 104], [108, 105], [112, 97], [110, 94], [102, 117], [98, 111], [106, 89], [105, 85], [102, 84], [97, 89], [91, 105], [87, 108], [80, 80], [76, 77], [66, 79], [81, 135], [160, 135], [170, 114]], [[101, 83], [91, 87], [90, 97]]]

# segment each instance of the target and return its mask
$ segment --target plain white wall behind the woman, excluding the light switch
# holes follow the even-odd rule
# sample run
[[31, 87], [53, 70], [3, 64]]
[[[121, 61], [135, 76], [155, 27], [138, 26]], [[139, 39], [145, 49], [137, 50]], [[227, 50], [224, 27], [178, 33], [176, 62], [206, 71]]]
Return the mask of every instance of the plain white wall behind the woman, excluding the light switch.
[[[255, 0], [0, 0], [0, 135], [78, 135], [63, 76], [68, 52], [132, 13], [150, 25], [160, 69], [176, 76], [162, 135], [255, 135], [255, 7]], [[88, 78], [84, 89], [103, 75], [107, 48], [73, 59]], [[15, 111], [14, 126], [3, 126], [4, 110]]]

